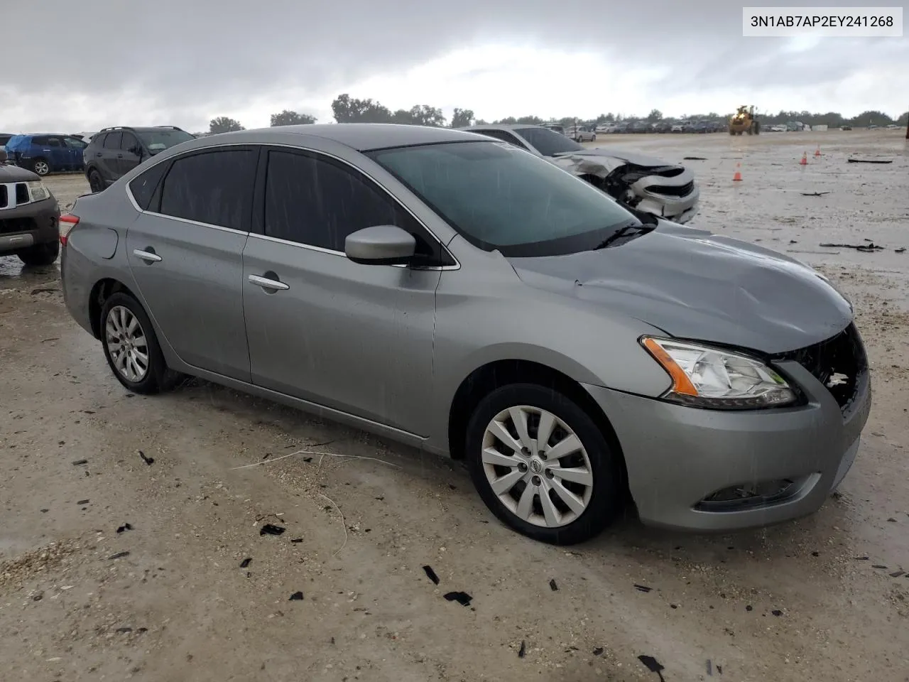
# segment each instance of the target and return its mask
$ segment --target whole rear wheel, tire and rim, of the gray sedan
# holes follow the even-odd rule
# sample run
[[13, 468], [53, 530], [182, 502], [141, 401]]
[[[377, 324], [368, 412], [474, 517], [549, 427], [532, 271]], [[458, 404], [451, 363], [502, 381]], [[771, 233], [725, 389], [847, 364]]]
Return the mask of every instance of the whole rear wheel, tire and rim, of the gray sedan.
[[152, 395], [179, 376], [167, 368], [155, 329], [133, 296], [117, 292], [101, 309], [101, 343], [117, 380], [134, 393]]

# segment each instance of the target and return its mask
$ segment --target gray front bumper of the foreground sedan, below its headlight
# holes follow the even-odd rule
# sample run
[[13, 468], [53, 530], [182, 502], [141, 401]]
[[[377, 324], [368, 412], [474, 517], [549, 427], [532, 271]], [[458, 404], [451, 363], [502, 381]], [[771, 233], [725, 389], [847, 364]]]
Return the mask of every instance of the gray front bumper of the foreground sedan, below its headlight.
[[[641, 520], [686, 530], [762, 527], [813, 514], [852, 466], [871, 409], [867, 372], [848, 409], [803, 366], [779, 364], [807, 405], [747, 412], [677, 406], [601, 386], [584, 387], [624, 451]], [[788, 480], [784, 494], [751, 506], [704, 505], [718, 491]]]

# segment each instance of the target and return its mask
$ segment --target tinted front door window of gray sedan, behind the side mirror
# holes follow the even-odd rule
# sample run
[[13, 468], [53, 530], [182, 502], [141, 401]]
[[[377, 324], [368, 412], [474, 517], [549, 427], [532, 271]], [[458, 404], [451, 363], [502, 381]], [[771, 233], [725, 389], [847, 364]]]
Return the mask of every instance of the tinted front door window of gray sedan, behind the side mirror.
[[[349, 168], [311, 155], [268, 153], [265, 235], [343, 252], [347, 235], [376, 225], [418, 229], [394, 199]], [[429, 255], [425, 238], [418, 236], [417, 245]]]

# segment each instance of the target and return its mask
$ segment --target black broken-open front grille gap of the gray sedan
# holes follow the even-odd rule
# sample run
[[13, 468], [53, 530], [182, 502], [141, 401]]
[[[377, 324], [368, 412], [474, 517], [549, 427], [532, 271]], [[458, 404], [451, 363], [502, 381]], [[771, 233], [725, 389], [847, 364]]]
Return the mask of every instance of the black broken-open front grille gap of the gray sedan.
[[843, 411], [851, 405], [868, 371], [868, 356], [854, 323], [826, 341], [784, 353], [778, 359], [794, 360], [811, 372]]

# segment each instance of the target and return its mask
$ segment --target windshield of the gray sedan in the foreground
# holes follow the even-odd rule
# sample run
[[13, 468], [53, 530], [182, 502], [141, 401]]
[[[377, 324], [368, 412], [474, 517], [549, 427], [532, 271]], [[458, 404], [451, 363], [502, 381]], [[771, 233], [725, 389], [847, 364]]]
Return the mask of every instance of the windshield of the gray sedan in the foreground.
[[637, 219], [514, 145], [454, 142], [369, 152], [474, 246], [503, 256], [587, 251]]

